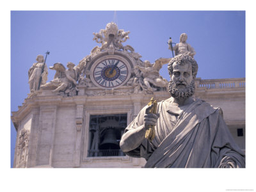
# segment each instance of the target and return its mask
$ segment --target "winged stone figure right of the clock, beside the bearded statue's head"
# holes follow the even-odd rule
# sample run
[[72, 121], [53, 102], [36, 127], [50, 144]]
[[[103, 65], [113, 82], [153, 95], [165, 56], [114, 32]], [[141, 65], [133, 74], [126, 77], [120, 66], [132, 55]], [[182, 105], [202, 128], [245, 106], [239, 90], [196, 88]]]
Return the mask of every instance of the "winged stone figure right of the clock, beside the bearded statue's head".
[[150, 86], [154, 84], [157, 87], [166, 87], [168, 82], [162, 76], [159, 75], [159, 70], [163, 67], [164, 64], [168, 63], [171, 59], [159, 58], [152, 65], [150, 61], [145, 61], [145, 67], [136, 65], [134, 68], [138, 68], [141, 71], [141, 76], [143, 77], [143, 82], [147, 86], [149, 91], [154, 91], [155, 88]]

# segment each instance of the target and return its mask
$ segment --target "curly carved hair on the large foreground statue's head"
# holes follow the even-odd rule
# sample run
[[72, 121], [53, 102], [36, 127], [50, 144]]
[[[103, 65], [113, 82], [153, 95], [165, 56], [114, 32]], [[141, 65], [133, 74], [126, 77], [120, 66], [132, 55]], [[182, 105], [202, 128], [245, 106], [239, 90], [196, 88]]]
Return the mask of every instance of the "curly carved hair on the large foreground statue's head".
[[172, 74], [173, 74], [172, 65], [174, 62], [177, 63], [178, 65], [184, 65], [187, 62], [191, 63], [192, 64], [192, 75], [194, 78], [196, 77], [196, 74], [198, 71], [198, 65], [193, 57], [189, 56], [188, 54], [178, 54], [177, 56], [172, 58], [172, 60], [168, 64], [168, 71], [169, 71], [170, 77], [172, 77]]

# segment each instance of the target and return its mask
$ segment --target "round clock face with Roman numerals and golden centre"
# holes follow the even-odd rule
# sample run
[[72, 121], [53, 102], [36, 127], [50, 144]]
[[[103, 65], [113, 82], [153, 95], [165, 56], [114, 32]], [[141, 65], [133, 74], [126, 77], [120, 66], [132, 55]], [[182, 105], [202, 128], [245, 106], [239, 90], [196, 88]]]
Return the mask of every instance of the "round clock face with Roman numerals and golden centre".
[[115, 88], [125, 82], [128, 76], [127, 65], [118, 59], [100, 61], [93, 68], [93, 80], [103, 88]]

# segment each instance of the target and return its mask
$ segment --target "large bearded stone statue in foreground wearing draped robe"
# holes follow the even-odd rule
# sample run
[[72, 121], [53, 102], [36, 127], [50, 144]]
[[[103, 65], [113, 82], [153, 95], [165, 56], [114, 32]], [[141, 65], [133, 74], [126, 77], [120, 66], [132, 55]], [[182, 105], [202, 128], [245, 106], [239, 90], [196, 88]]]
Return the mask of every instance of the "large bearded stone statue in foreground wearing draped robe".
[[[168, 64], [172, 97], [145, 106], [126, 127], [120, 147], [131, 157], [144, 157], [145, 168], [244, 168], [245, 155], [223, 120], [220, 108], [192, 97], [198, 65], [188, 54]], [[155, 137], [145, 138], [155, 126]]]

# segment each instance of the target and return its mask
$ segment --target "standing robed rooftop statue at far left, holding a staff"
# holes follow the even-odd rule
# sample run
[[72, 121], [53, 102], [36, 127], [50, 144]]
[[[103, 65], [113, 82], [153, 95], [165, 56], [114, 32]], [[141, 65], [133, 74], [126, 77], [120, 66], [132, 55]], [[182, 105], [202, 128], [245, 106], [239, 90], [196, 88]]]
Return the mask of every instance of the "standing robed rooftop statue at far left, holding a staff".
[[[48, 68], [44, 63], [44, 56], [41, 54], [36, 57], [36, 63], [33, 63], [32, 67], [29, 68], [28, 77], [29, 77], [29, 88], [30, 92], [38, 90], [39, 84], [45, 84], [47, 81]], [[44, 71], [44, 72], [42, 72]], [[40, 83], [40, 78], [42, 81]]]

